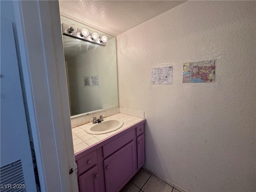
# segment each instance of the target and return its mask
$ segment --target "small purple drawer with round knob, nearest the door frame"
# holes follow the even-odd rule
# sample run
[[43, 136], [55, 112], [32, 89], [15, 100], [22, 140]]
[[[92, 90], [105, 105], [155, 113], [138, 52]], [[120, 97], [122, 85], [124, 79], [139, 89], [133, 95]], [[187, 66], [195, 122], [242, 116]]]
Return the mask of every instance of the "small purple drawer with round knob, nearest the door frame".
[[79, 174], [94, 166], [97, 162], [96, 150], [77, 160]]

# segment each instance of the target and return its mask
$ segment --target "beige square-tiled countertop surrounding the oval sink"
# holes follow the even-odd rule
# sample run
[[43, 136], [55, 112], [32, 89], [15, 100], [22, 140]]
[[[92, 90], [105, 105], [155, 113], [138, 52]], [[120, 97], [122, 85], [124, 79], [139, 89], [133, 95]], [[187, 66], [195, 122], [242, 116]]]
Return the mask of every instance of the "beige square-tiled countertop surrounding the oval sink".
[[118, 113], [118, 114], [106, 117], [106, 118], [104, 118], [104, 120], [112, 119], [112, 118], [121, 119], [121, 120], [123, 120], [124, 124], [118, 130], [115, 130], [115, 131], [112, 131], [112, 132], [109, 132], [106, 134], [89, 134], [89, 133], [85, 132], [84, 129], [86, 128], [86, 126], [92, 124], [92, 122], [72, 128], [74, 153], [80, 152], [81, 150], [84, 150], [87, 147], [89, 147], [95, 143], [98, 143], [101, 140], [104, 140], [105, 138], [108, 138], [108, 137], [114, 135], [115, 133], [120, 132], [120, 131], [124, 130], [125, 128], [128, 128], [128, 127], [140, 122], [141, 120], [143, 120], [143, 118], [138, 118], [135, 116], [130, 116], [130, 115], [122, 114], [122, 113]]

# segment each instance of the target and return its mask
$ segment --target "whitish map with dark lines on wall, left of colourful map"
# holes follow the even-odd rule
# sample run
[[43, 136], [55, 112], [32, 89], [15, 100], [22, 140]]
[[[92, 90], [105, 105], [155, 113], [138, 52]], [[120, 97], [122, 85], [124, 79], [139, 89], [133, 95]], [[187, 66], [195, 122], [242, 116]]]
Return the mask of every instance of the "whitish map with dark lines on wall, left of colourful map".
[[151, 84], [172, 84], [173, 66], [152, 68]]

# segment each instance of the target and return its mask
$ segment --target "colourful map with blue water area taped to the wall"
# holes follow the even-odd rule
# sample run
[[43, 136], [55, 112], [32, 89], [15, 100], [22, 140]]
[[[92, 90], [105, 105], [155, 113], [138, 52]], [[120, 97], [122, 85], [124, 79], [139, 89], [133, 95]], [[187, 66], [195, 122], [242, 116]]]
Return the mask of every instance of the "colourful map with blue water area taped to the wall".
[[183, 83], [215, 82], [215, 60], [183, 64]]

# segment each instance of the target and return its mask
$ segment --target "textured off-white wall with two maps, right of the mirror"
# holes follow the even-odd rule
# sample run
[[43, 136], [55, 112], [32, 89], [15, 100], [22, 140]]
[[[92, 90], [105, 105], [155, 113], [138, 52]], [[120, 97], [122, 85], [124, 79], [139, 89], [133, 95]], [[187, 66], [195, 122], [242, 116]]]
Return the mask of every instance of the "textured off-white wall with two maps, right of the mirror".
[[[144, 110], [146, 166], [187, 191], [255, 191], [256, 2], [188, 1], [118, 36], [120, 106]], [[216, 59], [216, 82], [182, 64]], [[174, 66], [172, 85], [151, 68]]]

